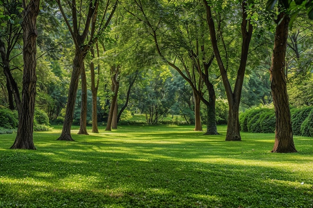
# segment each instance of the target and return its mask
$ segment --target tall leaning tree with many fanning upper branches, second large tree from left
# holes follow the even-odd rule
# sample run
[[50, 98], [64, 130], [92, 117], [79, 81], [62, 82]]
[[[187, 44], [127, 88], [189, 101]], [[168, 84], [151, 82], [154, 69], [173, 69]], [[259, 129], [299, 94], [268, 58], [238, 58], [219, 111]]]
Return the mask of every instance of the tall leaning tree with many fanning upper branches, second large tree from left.
[[[106, 1], [104, 6], [103, 15], [97, 20], [97, 9], [99, 5], [98, 0], [89, 0], [87, 11], [83, 10], [85, 5], [81, 3], [80, 5], [76, 4], [76, 0], [68, 1], [68, 5], [71, 9], [71, 21], [68, 20], [67, 15], [63, 10], [63, 6], [60, 0], [56, 0], [59, 9], [62, 13], [62, 16], [66, 22], [66, 25], [69, 29], [71, 37], [73, 39], [75, 45], [75, 56], [73, 59], [73, 70], [71, 74], [71, 80], [69, 84], [68, 90], [68, 98], [66, 105], [66, 112], [64, 118], [63, 129], [58, 140], [68, 140], [73, 141], [70, 135], [71, 123], [73, 120], [73, 111], [75, 106], [76, 93], [78, 88], [79, 75], [81, 75], [81, 70], [84, 64], [84, 58], [87, 54], [87, 51], [90, 49], [90, 46], [96, 41], [97, 36], [95, 33], [100, 34], [107, 27], [114, 11], [117, 6], [117, 1], [115, 1], [114, 5], [111, 8], [110, 14], [108, 14], [108, 10], [111, 6], [110, 0]], [[84, 15], [85, 14], [85, 15]], [[84, 26], [82, 25], [84, 22]], [[96, 23], [98, 23], [98, 27], [96, 28]], [[89, 31], [90, 29], [90, 31]]]

